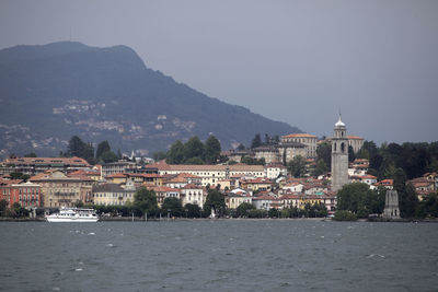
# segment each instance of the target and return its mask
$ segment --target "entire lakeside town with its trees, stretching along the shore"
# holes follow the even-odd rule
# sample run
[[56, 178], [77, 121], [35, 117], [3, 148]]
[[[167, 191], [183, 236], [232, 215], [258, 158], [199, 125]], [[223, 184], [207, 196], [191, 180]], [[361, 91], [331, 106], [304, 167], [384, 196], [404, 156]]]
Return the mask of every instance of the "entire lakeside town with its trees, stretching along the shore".
[[107, 141], [97, 147], [94, 164], [69, 156], [74, 153], [12, 156], [0, 165], [1, 217], [89, 206], [107, 218], [436, 218], [438, 174], [410, 177], [384, 157], [380, 164], [391, 165], [378, 174], [372, 148], [347, 135], [339, 116], [331, 138], [266, 135], [263, 142], [256, 135], [251, 148], [230, 151], [210, 136], [205, 145], [197, 137], [176, 141], [157, 160], [116, 155]]

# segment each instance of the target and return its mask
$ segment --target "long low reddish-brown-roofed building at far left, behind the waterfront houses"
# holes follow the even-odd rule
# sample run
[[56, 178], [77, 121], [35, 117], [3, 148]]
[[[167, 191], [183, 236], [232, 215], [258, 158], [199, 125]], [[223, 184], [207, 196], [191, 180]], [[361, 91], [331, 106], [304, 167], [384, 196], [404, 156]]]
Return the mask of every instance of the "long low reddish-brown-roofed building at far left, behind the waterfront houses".
[[13, 157], [5, 159], [0, 165], [0, 174], [22, 173], [36, 175], [46, 171], [91, 170], [91, 165], [80, 157]]

